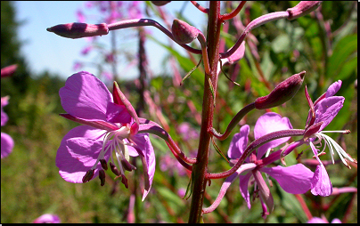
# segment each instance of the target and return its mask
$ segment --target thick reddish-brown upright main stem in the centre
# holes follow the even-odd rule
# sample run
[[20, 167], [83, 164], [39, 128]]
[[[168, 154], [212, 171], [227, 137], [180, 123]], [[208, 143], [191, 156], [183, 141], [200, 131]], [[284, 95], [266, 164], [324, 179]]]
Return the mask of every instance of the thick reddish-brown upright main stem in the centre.
[[[197, 156], [197, 163], [192, 165], [192, 206], [190, 209], [189, 222], [200, 222], [202, 204], [204, 201], [204, 192], [207, 185], [205, 174], [208, 171], [209, 146], [211, 134], [209, 130], [212, 128], [215, 94], [217, 93], [217, 61], [219, 60], [219, 37], [221, 21], [220, 2], [210, 1], [209, 21], [208, 21], [208, 56], [210, 75], [205, 75], [204, 96], [202, 101], [201, 130], [200, 141]], [[211, 93], [209, 85], [209, 77], [212, 87], [214, 88], [214, 96]]]

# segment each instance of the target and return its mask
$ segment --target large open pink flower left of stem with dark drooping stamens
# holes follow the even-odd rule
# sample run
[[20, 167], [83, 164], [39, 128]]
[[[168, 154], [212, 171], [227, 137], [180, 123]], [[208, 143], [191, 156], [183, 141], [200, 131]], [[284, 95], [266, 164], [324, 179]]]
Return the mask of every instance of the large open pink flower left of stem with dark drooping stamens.
[[139, 118], [119, 86], [114, 83], [111, 95], [102, 81], [81, 71], [67, 79], [59, 94], [62, 108], [69, 113], [61, 116], [83, 124], [61, 141], [56, 155], [61, 177], [81, 183], [99, 174], [103, 185], [103, 170], [110, 161], [111, 171], [127, 187], [124, 171], [135, 169], [128, 161], [130, 156], [138, 156], [143, 162], [144, 199], [151, 189], [155, 155], [148, 134], [138, 133]]

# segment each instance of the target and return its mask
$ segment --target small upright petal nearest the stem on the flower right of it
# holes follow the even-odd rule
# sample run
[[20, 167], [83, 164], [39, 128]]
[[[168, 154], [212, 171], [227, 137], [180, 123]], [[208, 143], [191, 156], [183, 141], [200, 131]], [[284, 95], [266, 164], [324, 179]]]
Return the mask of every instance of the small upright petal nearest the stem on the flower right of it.
[[240, 128], [240, 133], [235, 133], [233, 135], [233, 140], [230, 142], [229, 150], [227, 151], [227, 156], [231, 159], [236, 159], [241, 157], [242, 153], [248, 145], [248, 135], [250, 132], [249, 125], [242, 125]]

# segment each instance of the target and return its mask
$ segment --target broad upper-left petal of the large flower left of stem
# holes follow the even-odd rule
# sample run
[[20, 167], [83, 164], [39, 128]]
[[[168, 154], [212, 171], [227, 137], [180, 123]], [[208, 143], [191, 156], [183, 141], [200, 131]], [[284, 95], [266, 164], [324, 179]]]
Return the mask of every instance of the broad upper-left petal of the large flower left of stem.
[[74, 117], [106, 120], [108, 102], [112, 96], [97, 77], [80, 71], [66, 80], [59, 91], [61, 105]]

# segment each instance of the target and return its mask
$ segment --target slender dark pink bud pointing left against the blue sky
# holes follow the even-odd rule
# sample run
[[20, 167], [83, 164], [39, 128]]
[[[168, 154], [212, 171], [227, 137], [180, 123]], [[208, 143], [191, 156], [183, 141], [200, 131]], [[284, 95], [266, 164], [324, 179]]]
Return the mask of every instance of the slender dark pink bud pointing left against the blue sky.
[[67, 23], [59, 24], [51, 28], [46, 28], [47, 31], [53, 32], [58, 36], [69, 38], [80, 38], [85, 36], [102, 36], [109, 33], [109, 28], [106, 23], [101, 24], [87, 24], [87, 23]]

